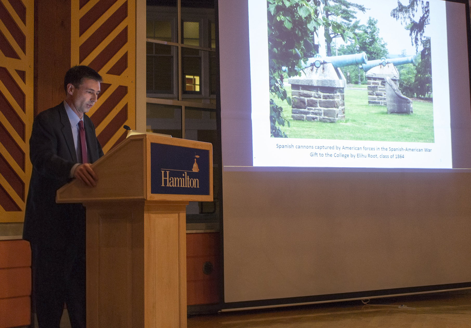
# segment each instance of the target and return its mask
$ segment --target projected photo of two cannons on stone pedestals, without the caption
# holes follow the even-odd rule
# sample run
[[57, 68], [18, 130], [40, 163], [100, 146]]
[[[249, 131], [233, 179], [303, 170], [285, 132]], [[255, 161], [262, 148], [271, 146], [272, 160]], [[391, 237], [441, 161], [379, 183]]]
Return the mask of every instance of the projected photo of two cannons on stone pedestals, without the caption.
[[434, 142], [429, 3], [402, 2], [267, 0], [272, 137]]

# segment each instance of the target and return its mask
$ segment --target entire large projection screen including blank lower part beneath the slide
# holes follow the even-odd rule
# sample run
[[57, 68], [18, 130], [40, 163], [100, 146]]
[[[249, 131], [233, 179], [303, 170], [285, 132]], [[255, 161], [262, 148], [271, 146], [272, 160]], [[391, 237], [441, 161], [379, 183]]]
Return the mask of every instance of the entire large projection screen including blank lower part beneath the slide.
[[[309, 52], [273, 32], [297, 15], [276, 23], [273, 2], [219, 1], [225, 309], [470, 288], [468, 4], [412, 1], [426, 18], [416, 47], [391, 16], [397, 0], [351, 0], [365, 8], [358, 34], [326, 47], [335, 22], [319, 25]], [[358, 63], [361, 31], [377, 32], [383, 62]], [[296, 53], [276, 75], [288, 103], [270, 92], [270, 60]], [[272, 129], [277, 108], [285, 124]]]

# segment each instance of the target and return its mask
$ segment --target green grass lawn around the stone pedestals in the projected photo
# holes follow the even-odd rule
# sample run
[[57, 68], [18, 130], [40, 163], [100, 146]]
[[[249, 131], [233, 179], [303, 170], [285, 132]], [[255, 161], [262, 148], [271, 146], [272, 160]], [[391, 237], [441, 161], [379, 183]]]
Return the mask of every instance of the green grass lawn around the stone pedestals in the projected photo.
[[[291, 97], [291, 87], [285, 89]], [[345, 88], [345, 121], [324, 123], [293, 120], [291, 106], [274, 100], [290, 121], [290, 127], [280, 127], [289, 138], [434, 142], [431, 102], [414, 101], [411, 115], [388, 114], [385, 106], [368, 105], [366, 89]]]

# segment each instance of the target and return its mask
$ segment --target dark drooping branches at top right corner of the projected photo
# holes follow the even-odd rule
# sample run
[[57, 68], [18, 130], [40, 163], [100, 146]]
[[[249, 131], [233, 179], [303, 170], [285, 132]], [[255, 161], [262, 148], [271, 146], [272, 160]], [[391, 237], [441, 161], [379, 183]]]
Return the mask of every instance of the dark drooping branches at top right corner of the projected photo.
[[[415, 21], [415, 15], [419, 10], [419, 6], [422, 10], [422, 16], [420, 16], [418, 21]], [[406, 29], [409, 30], [409, 36], [411, 37], [412, 45], [415, 44], [416, 51], [419, 48], [419, 42], [422, 44], [425, 25], [430, 23], [429, 14], [429, 2], [424, 0], [409, 0], [407, 6], [404, 6], [401, 1], [398, 0], [398, 7], [391, 11], [392, 17], [401, 21], [401, 24], [406, 24]]]

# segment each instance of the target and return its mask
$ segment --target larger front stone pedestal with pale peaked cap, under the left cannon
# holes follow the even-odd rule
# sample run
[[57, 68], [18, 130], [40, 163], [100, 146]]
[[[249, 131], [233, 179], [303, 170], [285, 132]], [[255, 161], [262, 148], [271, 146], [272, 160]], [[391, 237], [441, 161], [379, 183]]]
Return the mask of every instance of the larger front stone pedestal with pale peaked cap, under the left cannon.
[[309, 67], [300, 78], [290, 78], [292, 118], [300, 121], [335, 123], [345, 120], [346, 80], [329, 63]]

